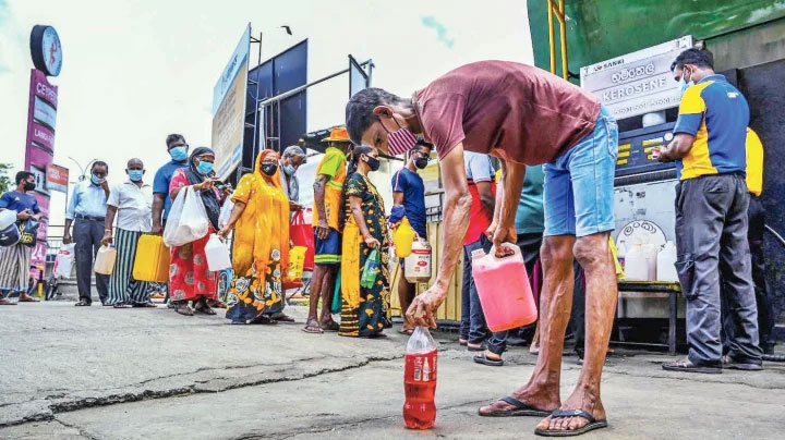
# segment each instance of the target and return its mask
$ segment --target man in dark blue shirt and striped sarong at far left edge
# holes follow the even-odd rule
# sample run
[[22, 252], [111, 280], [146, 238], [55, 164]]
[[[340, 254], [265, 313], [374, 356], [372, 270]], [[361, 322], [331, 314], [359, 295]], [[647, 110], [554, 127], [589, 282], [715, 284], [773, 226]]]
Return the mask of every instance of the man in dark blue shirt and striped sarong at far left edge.
[[[33, 190], [35, 190], [35, 175], [27, 171], [17, 172], [16, 190], [9, 191], [0, 197], [0, 211], [14, 210], [17, 220], [27, 220], [31, 217], [40, 220], [38, 201], [32, 194], [27, 194]], [[24, 243], [0, 247], [0, 305], [16, 304], [5, 297], [13, 292], [20, 292], [19, 301], [22, 303], [38, 302], [27, 294], [32, 256], [33, 247]]]

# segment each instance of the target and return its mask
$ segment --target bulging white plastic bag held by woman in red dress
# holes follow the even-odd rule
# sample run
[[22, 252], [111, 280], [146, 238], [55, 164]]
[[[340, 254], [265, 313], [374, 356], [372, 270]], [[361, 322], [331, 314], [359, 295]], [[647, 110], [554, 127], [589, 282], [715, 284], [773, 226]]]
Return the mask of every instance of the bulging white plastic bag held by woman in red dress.
[[185, 186], [178, 193], [167, 227], [164, 230], [164, 243], [169, 246], [182, 246], [207, 235], [209, 219], [202, 196], [193, 186]]

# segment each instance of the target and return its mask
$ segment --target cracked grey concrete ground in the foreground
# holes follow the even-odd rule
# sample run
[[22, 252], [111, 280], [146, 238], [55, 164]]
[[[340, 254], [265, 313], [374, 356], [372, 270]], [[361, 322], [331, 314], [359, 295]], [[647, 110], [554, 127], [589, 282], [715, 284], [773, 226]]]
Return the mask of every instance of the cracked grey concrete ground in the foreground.
[[[304, 310], [289, 309], [302, 321]], [[534, 438], [539, 418], [481, 418], [476, 408], [531, 374], [521, 349], [479, 366], [438, 334], [436, 427], [402, 428], [406, 338], [312, 335], [301, 325], [228, 326], [171, 310], [0, 307], [0, 439]], [[723, 375], [665, 372], [667, 355], [608, 360], [611, 428], [587, 438], [780, 439], [785, 367]], [[566, 357], [561, 395], [579, 369]]]

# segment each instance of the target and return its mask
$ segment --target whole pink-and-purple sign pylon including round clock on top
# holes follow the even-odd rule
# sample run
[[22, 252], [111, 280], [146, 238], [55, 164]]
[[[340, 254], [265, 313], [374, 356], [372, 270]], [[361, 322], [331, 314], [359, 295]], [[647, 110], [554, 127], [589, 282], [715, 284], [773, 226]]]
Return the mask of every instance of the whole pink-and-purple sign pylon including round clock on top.
[[[33, 252], [31, 265], [43, 266], [46, 264], [49, 224], [47, 170], [52, 167], [55, 156], [58, 109], [58, 87], [49, 83], [47, 76], [57, 76], [62, 69], [62, 46], [53, 27], [44, 25], [33, 27], [31, 58], [35, 69], [31, 70], [25, 170], [29, 170], [36, 176], [36, 191], [33, 194], [44, 215], [38, 227], [38, 243]], [[37, 278], [37, 270], [33, 276]]]

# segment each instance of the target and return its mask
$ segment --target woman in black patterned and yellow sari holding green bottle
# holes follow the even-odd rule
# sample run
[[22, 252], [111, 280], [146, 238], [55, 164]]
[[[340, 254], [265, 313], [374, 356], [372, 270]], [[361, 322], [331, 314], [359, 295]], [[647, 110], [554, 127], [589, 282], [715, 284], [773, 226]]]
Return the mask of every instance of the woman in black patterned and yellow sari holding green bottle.
[[[375, 338], [389, 327], [387, 304], [389, 283], [387, 262], [387, 222], [384, 200], [367, 178], [379, 168], [375, 148], [354, 148], [349, 178], [343, 184], [343, 246], [341, 255], [342, 337]], [[373, 288], [360, 285], [365, 260], [372, 249], [381, 254], [381, 271]]]

